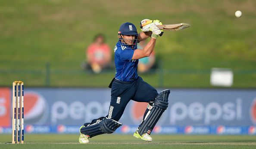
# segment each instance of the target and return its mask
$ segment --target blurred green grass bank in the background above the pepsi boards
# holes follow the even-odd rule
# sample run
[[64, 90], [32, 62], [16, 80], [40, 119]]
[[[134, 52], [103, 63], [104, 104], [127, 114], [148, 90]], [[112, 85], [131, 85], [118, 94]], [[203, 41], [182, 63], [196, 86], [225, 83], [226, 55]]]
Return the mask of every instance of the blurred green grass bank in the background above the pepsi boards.
[[[254, 6], [255, 0], [1, 0], [0, 86], [14, 80], [48, 85], [49, 63], [50, 86], [105, 87], [115, 70], [94, 76], [80, 68], [94, 35], [104, 33], [114, 47], [120, 24], [130, 21], [139, 29], [142, 19], [152, 18], [191, 27], [159, 37], [155, 51], [167, 73], [141, 75], [147, 82], [155, 87], [209, 88], [211, 68], [223, 67], [234, 70], [234, 88], [256, 88]], [[237, 9], [243, 13], [240, 18], [234, 16]], [[208, 73], [197, 73], [202, 70]]]

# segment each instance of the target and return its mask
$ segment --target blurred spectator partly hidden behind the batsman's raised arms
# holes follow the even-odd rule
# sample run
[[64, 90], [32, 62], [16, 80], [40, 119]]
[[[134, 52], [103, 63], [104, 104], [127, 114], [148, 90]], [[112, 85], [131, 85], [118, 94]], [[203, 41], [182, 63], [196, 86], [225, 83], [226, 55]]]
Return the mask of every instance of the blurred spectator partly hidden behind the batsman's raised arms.
[[[144, 46], [146, 46], [145, 40], [140, 41], [138, 43], [137, 48], [138, 49], [143, 49]], [[155, 58], [155, 51], [151, 53], [149, 57], [141, 58], [138, 64], [138, 71], [140, 73], [146, 73], [150, 68], [152, 68], [155, 64], [156, 58]]]

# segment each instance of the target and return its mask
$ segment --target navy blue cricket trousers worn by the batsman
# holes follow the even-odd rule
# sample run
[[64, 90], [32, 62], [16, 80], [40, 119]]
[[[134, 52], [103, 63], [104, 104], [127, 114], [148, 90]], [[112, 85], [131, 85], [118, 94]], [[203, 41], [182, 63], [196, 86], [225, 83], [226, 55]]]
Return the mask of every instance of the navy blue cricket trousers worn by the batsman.
[[[149, 103], [153, 102], [158, 95], [156, 89], [144, 82], [140, 76], [133, 82], [113, 79], [109, 87], [112, 88], [111, 102], [109, 113], [106, 117], [115, 121], [119, 121], [130, 100]], [[145, 108], [146, 111], [147, 107], [142, 108]]]

